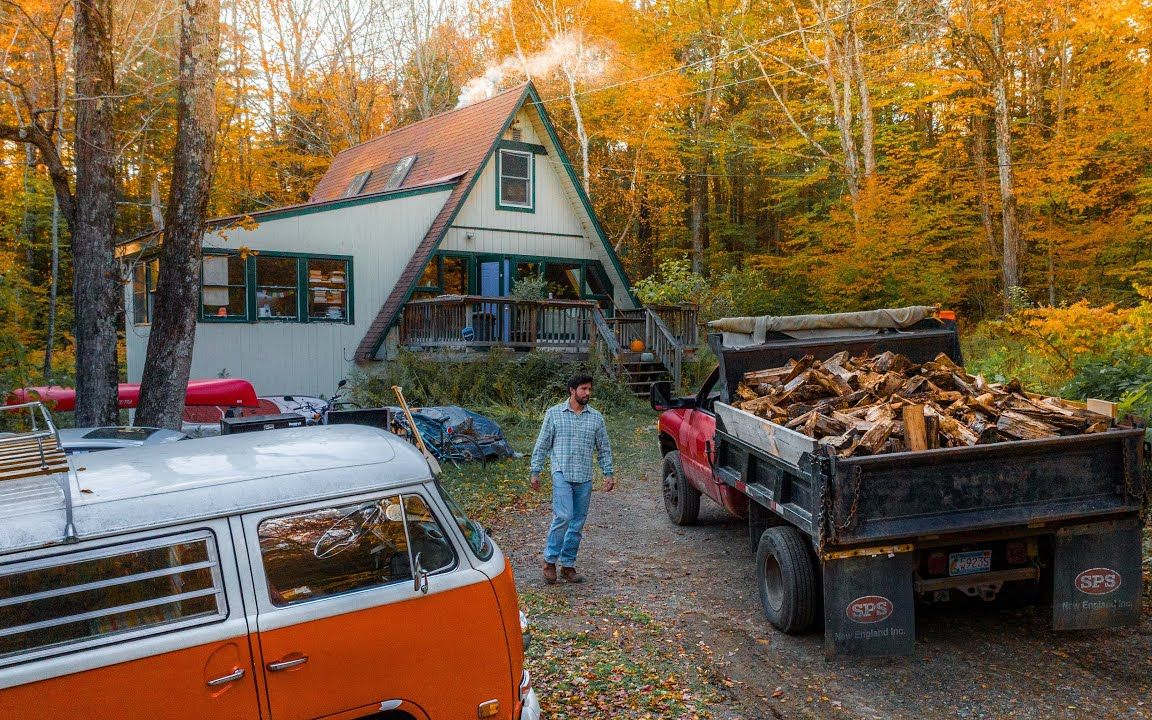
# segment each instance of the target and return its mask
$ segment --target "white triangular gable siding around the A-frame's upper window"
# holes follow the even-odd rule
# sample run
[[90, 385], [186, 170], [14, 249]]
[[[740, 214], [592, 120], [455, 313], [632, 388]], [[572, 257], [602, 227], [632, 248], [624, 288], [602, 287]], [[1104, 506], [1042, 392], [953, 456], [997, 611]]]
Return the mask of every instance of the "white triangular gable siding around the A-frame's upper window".
[[497, 162], [490, 158], [440, 249], [600, 260], [614, 288], [613, 301], [631, 308], [627, 282], [597, 236], [560, 153], [539, 127], [536, 111], [522, 109], [517, 121], [522, 142], [544, 145], [548, 151], [535, 156], [535, 212], [497, 209]]

